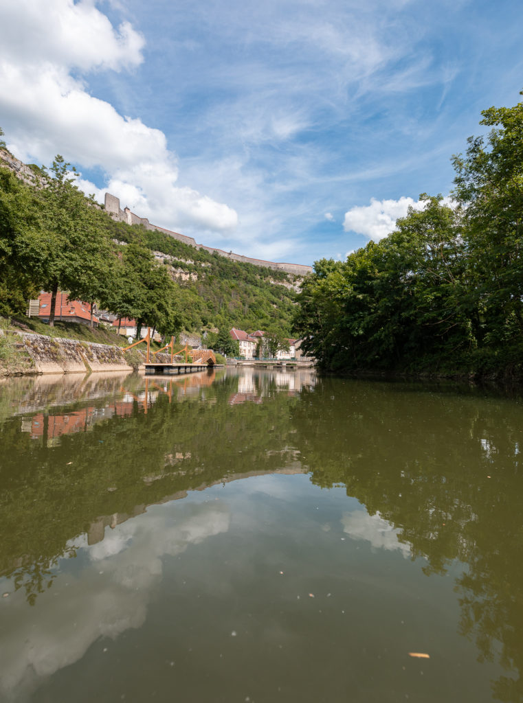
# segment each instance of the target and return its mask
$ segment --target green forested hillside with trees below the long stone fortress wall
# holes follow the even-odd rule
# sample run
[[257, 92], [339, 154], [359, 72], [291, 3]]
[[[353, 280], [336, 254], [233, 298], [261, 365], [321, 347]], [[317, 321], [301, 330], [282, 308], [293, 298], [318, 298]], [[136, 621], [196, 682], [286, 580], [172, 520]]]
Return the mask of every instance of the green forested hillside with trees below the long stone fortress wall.
[[39, 290], [65, 290], [165, 335], [233, 326], [290, 335], [295, 276], [113, 221], [60, 156], [49, 170], [14, 162], [0, 142], [0, 315], [25, 314]]

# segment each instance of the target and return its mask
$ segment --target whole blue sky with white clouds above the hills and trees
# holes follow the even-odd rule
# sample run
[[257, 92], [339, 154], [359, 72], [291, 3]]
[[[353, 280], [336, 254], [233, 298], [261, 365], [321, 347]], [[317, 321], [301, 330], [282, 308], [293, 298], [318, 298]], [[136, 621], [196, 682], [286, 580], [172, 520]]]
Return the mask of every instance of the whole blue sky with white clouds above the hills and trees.
[[0, 0], [0, 125], [80, 185], [240, 254], [379, 239], [523, 89], [517, 1]]

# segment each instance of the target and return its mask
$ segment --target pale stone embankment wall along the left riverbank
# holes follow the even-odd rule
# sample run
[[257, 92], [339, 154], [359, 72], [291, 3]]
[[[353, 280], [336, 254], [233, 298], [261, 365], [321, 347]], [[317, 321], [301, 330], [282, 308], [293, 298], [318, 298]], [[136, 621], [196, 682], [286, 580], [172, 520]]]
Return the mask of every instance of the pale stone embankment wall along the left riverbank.
[[[16, 358], [23, 363], [7, 363], [1, 370], [3, 375], [130, 371], [140, 368], [145, 361], [145, 353], [138, 349], [124, 352], [122, 347], [111, 344], [29, 333], [16, 335], [15, 349]], [[166, 354], [157, 354], [156, 358], [168, 361]]]

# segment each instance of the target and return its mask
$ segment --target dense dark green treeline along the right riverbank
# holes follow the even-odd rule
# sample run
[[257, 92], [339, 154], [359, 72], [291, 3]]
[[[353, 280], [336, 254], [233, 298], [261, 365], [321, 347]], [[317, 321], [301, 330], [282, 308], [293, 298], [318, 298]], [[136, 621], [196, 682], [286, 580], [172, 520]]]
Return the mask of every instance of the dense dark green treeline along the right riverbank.
[[424, 194], [384, 240], [316, 262], [295, 326], [323, 368], [522, 375], [523, 103], [481, 114], [452, 207]]

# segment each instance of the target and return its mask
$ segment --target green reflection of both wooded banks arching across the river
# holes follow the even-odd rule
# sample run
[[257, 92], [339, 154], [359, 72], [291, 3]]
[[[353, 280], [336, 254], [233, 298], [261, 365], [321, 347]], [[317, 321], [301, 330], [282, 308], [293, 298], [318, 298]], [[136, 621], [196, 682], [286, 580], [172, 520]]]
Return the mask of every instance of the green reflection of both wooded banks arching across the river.
[[[427, 575], [466, 564], [455, 586], [460, 633], [475, 640], [480, 660], [523, 671], [520, 406], [360, 381], [325, 379], [301, 397], [270, 375], [255, 376], [254, 387], [263, 402], [234, 407], [235, 377], [175, 392], [172, 404], [159, 394], [147, 415], [135, 403], [131, 415], [64, 436], [60, 446], [31, 440], [19, 419], [4, 423], [0, 574], [18, 579], [34, 602], [70, 540], [100, 516], [291, 466], [299, 451], [315, 484], [343, 484], [370, 515], [379, 512], [412, 558], [427, 560]], [[493, 692], [523, 699], [519, 678], [501, 676]]]

